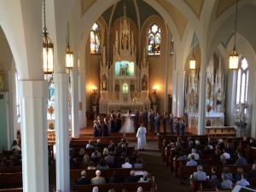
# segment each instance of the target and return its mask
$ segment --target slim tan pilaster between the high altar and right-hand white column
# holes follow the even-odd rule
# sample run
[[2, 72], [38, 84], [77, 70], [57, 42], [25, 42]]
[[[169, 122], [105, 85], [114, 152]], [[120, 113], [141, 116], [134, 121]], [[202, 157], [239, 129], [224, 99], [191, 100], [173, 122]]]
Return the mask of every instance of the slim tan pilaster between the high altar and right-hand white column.
[[169, 58], [169, 37], [170, 35], [167, 33], [166, 35], [166, 72], [165, 72], [165, 96], [164, 96], [164, 112], [167, 112], [168, 108], [168, 58]]

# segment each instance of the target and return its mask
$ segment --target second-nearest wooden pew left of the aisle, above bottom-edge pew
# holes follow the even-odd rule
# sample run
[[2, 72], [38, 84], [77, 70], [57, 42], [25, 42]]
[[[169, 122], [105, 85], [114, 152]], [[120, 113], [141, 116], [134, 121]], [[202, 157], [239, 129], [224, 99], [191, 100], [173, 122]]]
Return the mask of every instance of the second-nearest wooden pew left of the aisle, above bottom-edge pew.
[[[70, 170], [70, 179], [79, 179], [81, 177], [81, 172], [84, 169], [78, 169], [78, 170]], [[134, 171], [143, 171], [144, 168], [110, 168], [110, 169], [101, 169], [101, 177], [105, 177], [106, 179], [109, 179], [113, 176], [113, 172], [119, 172], [119, 177], [125, 178], [127, 176], [130, 176], [131, 170]], [[96, 169], [94, 170], [85, 170], [86, 171], [86, 178], [91, 179], [93, 177], [96, 177]]]

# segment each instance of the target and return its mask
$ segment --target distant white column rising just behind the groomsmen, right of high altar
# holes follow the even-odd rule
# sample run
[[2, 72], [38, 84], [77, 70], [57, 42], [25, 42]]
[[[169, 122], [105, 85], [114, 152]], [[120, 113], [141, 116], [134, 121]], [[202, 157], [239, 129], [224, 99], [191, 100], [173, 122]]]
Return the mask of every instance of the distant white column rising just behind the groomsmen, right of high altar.
[[176, 117], [184, 115], [185, 71], [176, 72]]

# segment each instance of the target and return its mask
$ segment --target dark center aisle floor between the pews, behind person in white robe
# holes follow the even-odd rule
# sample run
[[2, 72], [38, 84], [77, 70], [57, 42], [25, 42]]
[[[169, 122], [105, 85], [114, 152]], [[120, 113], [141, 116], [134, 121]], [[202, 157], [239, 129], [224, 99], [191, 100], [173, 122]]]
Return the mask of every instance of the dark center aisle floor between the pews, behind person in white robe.
[[[136, 143], [137, 144], [137, 143]], [[179, 184], [177, 178], [172, 175], [169, 167], [161, 160], [160, 150], [156, 142], [148, 142], [148, 149], [140, 151], [145, 163], [145, 170], [149, 172], [155, 179], [157, 191], [169, 192], [188, 192], [189, 182]]]

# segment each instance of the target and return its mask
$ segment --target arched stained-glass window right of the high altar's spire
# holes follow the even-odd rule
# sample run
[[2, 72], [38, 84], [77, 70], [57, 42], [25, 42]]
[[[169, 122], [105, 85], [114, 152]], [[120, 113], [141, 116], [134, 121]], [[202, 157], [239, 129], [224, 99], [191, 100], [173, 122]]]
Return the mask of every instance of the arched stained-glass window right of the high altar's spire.
[[160, 55], [161, 31], [153, 24], [148, 29], [148, 55]]

